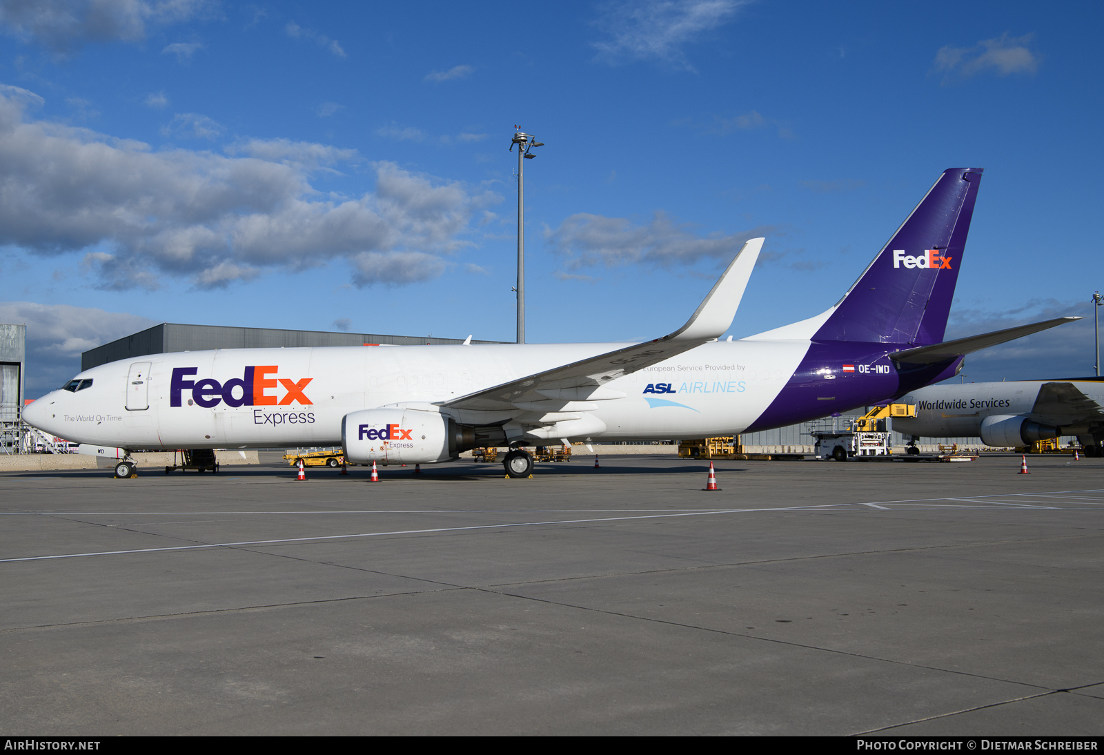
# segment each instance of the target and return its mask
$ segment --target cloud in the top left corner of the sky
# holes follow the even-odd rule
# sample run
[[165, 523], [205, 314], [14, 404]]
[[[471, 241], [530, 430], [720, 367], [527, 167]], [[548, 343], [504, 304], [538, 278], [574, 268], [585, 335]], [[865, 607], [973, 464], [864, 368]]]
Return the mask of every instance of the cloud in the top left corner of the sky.
[[149, 26], [208, 15], [214, 0], [3, 0], [0, 25], [57, 54], [87, 42], [141, 42]]

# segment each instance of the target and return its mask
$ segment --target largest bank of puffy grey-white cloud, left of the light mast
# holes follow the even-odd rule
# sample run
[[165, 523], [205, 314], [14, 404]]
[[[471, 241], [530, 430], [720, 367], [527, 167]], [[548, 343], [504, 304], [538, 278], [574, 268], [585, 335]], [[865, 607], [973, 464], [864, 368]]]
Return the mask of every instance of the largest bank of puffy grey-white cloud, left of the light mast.
[[[346, 259], [357, 285], [439, 275], [471, 219], [500, 198], [373, 163], [375, 189], [323, 196], [311, 173], [353, 150], [251, 140], [229, 156], [153, 151], [91, 129], [28, 119], [33, 97], [0, 91], [0, 244], [40, 255], [85, 253], [106, 288], [200, 287], [266, 268]], [[194, 127], [194, 121], [193, 121]]]

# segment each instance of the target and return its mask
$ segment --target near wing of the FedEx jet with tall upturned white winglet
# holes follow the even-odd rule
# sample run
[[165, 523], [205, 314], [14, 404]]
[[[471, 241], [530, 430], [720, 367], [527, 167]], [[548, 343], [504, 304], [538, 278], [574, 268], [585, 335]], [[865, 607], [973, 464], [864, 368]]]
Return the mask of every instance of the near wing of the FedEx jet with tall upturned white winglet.
[[[616, 378], [650, 366], [708, 341], [720, 338], [732, 326], [752, 268], [763, 248], [763, 238], [747, 241], [687, 323], [669, 336], [591, 357], [578, 362], [526, 375], [466, 396], [442, 402], [464, 410], [554, 408], [554, 404], [620, 398], [604, 389]], [[539, 406], [535, 404], [540, 404]], [[593, 407], [588, 407], [593, 408]], [[577, 407], [576, 411], [585, 411]]]

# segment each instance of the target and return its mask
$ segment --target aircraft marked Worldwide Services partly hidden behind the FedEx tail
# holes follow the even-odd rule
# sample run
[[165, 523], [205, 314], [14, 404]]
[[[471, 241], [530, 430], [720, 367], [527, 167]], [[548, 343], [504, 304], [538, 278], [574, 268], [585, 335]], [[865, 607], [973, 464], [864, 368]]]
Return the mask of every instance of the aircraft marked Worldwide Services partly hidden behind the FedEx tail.
[[987, 446], [1030, 446], [1075, 435], [1085, 456], [1104, 440], [1104, 379], [1020, 380], [932, 385], [903, 396], [915, 417], [893, 429], [914, 437], [980, 437]]

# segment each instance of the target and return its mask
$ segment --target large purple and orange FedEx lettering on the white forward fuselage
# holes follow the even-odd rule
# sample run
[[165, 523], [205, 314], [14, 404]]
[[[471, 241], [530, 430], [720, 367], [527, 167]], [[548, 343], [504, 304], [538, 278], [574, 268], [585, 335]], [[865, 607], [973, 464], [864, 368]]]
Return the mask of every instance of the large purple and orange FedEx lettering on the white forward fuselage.
[[[189, 380], [199, 370], [195, 368], [173, 368], [172, 381], [169, 383], [169, 406], [181, 406], [181, 394], [189, 391], [192, 394], [191, 404], [195, 402], [203, 408], [211, 408], [225, 402], [226, 406], [287, 406], [291, 402], [299, 404], [311, 404], [310, 398], [304, 393], [304, 389], [310, 383], [312, 378], [304, 378], [299, 381], [289, 378], [269, 378], [279, 372], [276, 364], [262, 366], [247, 366], [241, 378], [231, 378], [225, 383], [220, 383], [213, 378], [203, 380]], [[285, 393], [277, 396], [277, 385], [283, 385]]]

